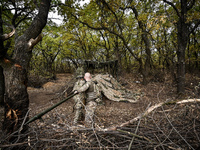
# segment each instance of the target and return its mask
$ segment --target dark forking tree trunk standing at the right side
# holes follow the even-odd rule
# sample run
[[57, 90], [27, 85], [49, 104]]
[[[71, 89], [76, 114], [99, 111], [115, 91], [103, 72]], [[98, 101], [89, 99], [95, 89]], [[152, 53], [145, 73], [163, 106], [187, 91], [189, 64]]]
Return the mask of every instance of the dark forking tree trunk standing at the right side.
[[[189, 39], [189, 35], [194, 31], [198, 25], [200, 24], [200, 21], [194, 22], [187, 20], [187, 12], [193, 8], [195, 4], [195, 0], [188, 2], [187, 0], [181, 0], [181, 9], [179, 9], [170, 1], [163, 0], [165, 3], [171, 5], [177, 16], [178, 16], [178, 22], [177, 22], [177, 39], [178, 39], [178, 49], [177, 49], [177, 58], [178, 58], [178, 64], [177, 64], [177, 92], [178, 94], [185, 93], [185, 51]], [[194, 27], [191, 26], [193, 22]]]

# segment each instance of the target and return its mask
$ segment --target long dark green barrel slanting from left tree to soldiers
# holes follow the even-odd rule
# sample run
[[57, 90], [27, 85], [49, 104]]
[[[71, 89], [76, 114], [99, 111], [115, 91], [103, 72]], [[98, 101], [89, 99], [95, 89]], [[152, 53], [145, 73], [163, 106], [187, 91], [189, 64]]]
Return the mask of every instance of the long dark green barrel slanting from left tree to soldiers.
[[46, 113], [48, 113], [48, 112], [51, 111], [52, 109], [56, 108], [57, 106], [61, 105], [62, 103], [64, 103], [64, 102], [67, 101], [68, 99], [72, 98], [72, 97], [73, 97], [74, 95], [76, 95], [76, 94], [78, 94], [78, 93], [74, 93], [74, 94], [68, 96], [67, 98], [65, 98], [64, 100], [58, 102], [57, 104], [53, 105], [52, 107], [49, 107], [48, 109], [44, 110], [43, 112], [41, 112], [41, 113], [35, 115], [33, 118], [31, 118], [29, 121], [27, 121], [27, 122], [25, 123], [25, 125], [27, 125], [27, 124], [29, 124], [29, 123], [31, 123], [31, 122], [37, 120], [37, 119], [40, 119], [43, 115], [45, 115]]

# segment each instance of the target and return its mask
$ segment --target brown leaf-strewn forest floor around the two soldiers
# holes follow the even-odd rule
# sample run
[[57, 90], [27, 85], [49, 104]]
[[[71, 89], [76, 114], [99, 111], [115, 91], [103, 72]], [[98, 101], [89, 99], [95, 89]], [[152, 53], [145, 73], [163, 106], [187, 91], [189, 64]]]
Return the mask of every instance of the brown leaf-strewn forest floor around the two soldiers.
[[[46, 82], [41, 88], [28, 87], [30, 99], [30, 118], [66, 98], [66, 89], [71, 84], [72, 77], [72, 74], [57, 74], [56, 80]], [[194, 98], [194, 86], [198, 85], [198, 81], [200, 81], [198, 77], [194, 76], [187, 76], [187, 79], [189, 80], [186, 81], [186, 94], [182, 97], [182, 99]], [[138, 101], [136, 103], [115, 102], [104, 97], [104, 105], [97, 107], [95, 116], [95, 121], [99, 128], [120, 126], [122, 123], [125, 123], [144, 113], [150, 106], [178, 99], [176, 94], [176, 85], [170, 80], [170, 77], [163, 78], [162, 82], [159, 82], [154, 78], [154, 80], [152, 80], [149, 84], [142, 85], [139, 77], [125, 74], [123, 75], [123, 78], [119, 77], [118, 81], [133, 93], [140, 93], [137, 97]], [[43, 121], [37, 120], [31, 124], [33, 126], [36, 125], [39, 130], [53, 129], [56, 132], [65, 131], [72, 126], [74, 117], [73, 106], [74, 101], [71, 98], [44, 115], [42, 117]], [[200, 108], [199, 104], [195, 107], [198, 109]], [[173, 113], [179, 113], [182, 111], [183, 108], [185, 110], [186, 106], [182, 105], [180, 107], [177, 106], [176, 108], [173, 106], [173, 108], [166, 108], [166, 110], [173, 110], [171, 111], [171, 115], [173, 115]], [[159, 117], [160, 114], [158, 114], [157, 118]], [[195, 117], [199, 118], [199, 114]], [[158, 120], [160, 119], [162, 118], [159, 118]], [[159, 123], [156, 123], [155, 125], [157, 126], [158, 124]], [[45, 133], [44, 131], [41, 132]], [[200, 142], [199, 136], [196, 138]], [[186, 144], [186, 146], [188, 145]]]

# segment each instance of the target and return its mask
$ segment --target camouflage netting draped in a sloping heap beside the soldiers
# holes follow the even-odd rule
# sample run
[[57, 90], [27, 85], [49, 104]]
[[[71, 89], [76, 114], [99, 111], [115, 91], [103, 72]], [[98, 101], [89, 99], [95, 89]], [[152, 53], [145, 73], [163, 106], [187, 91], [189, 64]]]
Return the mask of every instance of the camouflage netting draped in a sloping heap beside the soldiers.
[[136, 94], [123, 87], [115, 78], [112, 77], [112, 75], [97, 74], [93, 77], [93, 80], [97, 82], [103, 95], [105, 95], [109, 100], [117, 102], [137, 102]]

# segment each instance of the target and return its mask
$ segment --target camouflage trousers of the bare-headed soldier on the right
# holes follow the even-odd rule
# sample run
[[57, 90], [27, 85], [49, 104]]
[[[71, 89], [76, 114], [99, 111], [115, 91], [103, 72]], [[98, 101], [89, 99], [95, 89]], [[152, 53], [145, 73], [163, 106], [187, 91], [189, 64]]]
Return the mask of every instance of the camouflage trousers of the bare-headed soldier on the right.
[[88, 127], [92, 127], [94, 122], [94, 113], [97, 107], [97, 103], [94, 101], [89, 101], [85, 106], [85, 124]]

